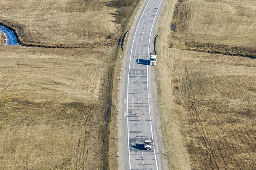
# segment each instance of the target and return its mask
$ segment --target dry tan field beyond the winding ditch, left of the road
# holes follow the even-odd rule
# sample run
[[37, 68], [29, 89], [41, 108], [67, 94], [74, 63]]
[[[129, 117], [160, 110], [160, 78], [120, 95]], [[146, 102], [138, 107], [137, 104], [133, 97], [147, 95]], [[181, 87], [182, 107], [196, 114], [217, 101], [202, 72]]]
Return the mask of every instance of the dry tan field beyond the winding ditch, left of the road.
[[23, 44], [92, 48], [116, 44], [117, 5], [106, 0], [2, 0], [0, 15]]

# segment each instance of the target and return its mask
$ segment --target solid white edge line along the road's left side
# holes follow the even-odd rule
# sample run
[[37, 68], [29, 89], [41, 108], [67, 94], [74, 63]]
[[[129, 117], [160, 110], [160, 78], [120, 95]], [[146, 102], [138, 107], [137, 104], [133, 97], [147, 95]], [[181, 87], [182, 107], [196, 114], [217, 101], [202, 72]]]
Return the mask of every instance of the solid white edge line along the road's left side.
[[[149, 1], [148, 1], [148, 3], [149, 3]], [[147, 5], [145, 6], [145, 9], [144, 9], [144, 11], [142, 12], [142, 15], [144, 14], [144, 12], [145, 12], [145, 10], [146, 10], [146, 8], [147, 8], [147, 6], [148, 6], [148, 3], [147, 3]], [[141, 17], [140, 17], [140, 20], [142, 19], [142, 15], [141, 15]], [[138, 21], [140, 21], [140, 20], [138, 20]], [[138, 25], [137, 25], [137, 28], [136, 28], [136, 30], [135, 30], [135, 36], [136, 36], [136, 32], [137, 32], [137, 29], [138, 29], [138, 26], [139, 26], [139, 23], [138, 23]], [[133, 37], [133, 43], [134, 43], [134, 37]], [[133, 43], [132, 43], [132, 45], [131, 45], [131, 54], [132, 54], [132, 51], [133, 51]], [[129, 142], [129, 114], [128, 114], [128, 98], [129, 98], [129, 96], [128, 96], [128, 93], [129, 93], [129, 77], [130, 77], [130, 66], [131, 66], [131, 54], [130, 54], [130, 61], [129, 61], [129, 70], [128, 70], [128, 81], [127, 81], [127, 136], [128, 136], [128, 156], [129, 156], [129, 169], [131, 170], [131, 157], [130, 157], [130, 142]]]

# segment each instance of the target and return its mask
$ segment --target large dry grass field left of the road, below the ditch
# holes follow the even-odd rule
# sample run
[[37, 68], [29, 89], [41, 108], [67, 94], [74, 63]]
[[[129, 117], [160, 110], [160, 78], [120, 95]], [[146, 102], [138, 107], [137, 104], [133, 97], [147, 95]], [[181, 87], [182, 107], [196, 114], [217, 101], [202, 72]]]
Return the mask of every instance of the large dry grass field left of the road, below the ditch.
[[0, 51], [0, 169], [106, 169], [115, 47]]

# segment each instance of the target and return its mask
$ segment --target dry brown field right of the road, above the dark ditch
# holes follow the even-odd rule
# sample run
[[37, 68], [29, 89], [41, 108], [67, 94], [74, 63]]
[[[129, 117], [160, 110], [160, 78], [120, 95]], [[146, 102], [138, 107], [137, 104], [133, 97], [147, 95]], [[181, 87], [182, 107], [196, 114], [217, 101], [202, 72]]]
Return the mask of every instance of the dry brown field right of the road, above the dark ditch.
[[[256, 2], [251, 0], [196, 0], [179, 3], [178, 14], [172, 20], [176, 25], [171, 34], [175, 47], [220, 54], [227, 54], [228, 51], [228, 55], [239, 56], [256, 53], [255, 9]], [[209, 45], [215, 47], [209, 49]], [[229, 49], [225, 46], [223, 49], [222, 45]], [[255, 54], [252, 56], [255, 57]]]

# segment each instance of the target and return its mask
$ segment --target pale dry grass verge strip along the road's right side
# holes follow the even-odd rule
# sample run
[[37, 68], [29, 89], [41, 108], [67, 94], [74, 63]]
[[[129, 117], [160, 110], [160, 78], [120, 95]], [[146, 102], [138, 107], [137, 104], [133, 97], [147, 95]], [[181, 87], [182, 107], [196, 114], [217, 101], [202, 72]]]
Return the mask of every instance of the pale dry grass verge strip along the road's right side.
[[[184, 73], [178, 61], [178, 50], [170, 48], [167, 37], [170, 22], [175, 10], [175, 1], [167, 1], [159, 23], [158, 63], [156, 65], [156, 82], [158, 90], [158, 107], [161, 114], [161, 127], [164, 136], [165, 151], [169, 169], [191, 169], [189, 155], [183, 145], [178, 114], [184, 113], [173, 101], [172, 71]], [[183, 74], [181, 74], [182, 76]], [[159, 78], [159, 80], [158, 80]]]

